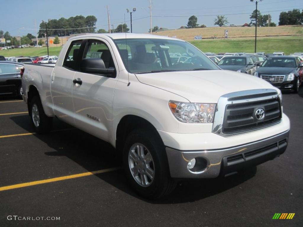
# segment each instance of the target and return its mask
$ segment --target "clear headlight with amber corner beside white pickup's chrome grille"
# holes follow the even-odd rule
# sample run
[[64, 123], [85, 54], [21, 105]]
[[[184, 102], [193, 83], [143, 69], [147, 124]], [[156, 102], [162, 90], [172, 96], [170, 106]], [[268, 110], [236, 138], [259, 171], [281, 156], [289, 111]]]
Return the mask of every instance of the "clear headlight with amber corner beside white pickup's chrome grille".
[[175, 117], [186, 123], [213, 123], [216, 104], [182, 103], [169, 101], [169, 107]]

